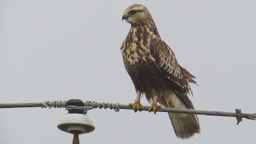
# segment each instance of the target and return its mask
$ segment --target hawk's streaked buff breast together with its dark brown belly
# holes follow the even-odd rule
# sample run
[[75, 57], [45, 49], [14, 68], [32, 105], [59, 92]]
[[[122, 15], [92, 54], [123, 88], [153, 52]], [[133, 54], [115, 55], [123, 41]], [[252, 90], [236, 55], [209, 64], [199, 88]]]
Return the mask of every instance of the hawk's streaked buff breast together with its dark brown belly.
[[149, 46], [153, 37], [154, 35], [146, 27], [133, 27], [121, 46], [122, 58], [128, 74], [136, 89], [144, 92], [165, 82], [150, 54]]

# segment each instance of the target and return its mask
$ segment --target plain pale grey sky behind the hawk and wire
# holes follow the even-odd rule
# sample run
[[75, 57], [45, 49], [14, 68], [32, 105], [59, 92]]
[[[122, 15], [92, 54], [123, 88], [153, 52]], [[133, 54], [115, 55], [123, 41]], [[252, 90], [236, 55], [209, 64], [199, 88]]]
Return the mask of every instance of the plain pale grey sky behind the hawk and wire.
[[[119, 47], [130, 30], [127, 6], [153, 15], [178, 62], [197, 76], [198, 110], [256, 113], [256, 1], [0, 1], [0, 102], [71, 98], [134, 102]], [[146, 98], [142, 104], [149, 105]], [[0, 110], [1, 144], [70, 144], [58, 130], [64, 109]], [[96, 129], [80, 143], [254, 143], [256, 122], [199, 115], [201, 134], [176, 138], [166, 113], [90, 110]]]

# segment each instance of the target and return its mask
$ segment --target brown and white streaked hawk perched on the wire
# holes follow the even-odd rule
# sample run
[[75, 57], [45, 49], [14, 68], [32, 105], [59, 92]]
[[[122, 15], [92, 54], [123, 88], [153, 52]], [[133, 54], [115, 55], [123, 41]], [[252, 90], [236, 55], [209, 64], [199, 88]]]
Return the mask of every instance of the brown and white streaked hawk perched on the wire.
[[[129, 6], [123, 19], [131, 25], [121, 46], [124, 65], [136, 90], [135, 102], [130, 106], [135, 112], [140, 109], [140, 98], [145, 94], [152, 102], [150, 111], [154, 114], [160, 107], [158, 103], [165, 107], [194, 109], [188, 94], [192, 93], [190, 83], [196, 84], [195, 77], [178, 64], [174, 52], [160, 38], [146, 6]], [[169, 113], [169, 117], [178, 138], [190, 138], [200, 132], [194, 114]]]

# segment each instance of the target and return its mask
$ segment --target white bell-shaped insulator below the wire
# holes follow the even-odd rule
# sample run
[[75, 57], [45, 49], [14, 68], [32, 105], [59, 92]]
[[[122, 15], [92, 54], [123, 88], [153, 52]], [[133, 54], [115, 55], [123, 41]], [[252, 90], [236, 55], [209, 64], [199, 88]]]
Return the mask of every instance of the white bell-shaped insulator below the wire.
[[59, 119], [58, 129], [70, 134], [85, 134], [94, 131], [95, 126], [86, 114], [65, 114]]

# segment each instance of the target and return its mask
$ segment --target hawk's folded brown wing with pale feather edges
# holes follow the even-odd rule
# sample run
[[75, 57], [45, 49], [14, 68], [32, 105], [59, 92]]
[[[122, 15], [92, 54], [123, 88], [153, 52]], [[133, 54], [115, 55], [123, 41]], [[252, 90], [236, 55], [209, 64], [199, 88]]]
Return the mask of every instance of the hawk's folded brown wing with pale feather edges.
[[192, 93], [189, 82], [196, 84], [194, 75], [178, 64], [174, 52], [160, 38], [154, 38], [150, 42], [150, 54], [162, 74], [170, 80], [169, 82], [174, 87], [174, 92], [178, 94], [178, 97], [183, 102], [186, 102], [188, 107], [193, 108], [193, 104], [187, 94]]

